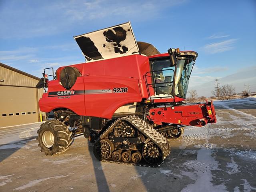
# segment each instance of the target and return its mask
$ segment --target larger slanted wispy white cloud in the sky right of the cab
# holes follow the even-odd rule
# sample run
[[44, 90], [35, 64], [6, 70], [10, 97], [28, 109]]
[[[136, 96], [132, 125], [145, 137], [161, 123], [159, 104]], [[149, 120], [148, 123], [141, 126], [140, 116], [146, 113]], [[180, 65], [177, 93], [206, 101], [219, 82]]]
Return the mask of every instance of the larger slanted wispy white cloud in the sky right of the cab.
[[236, 41], [237, 39], [229, 39], [222, 42], [210, 43], [205, 45], [202, 49], [209, 54], [225, 52], [232, 50]]

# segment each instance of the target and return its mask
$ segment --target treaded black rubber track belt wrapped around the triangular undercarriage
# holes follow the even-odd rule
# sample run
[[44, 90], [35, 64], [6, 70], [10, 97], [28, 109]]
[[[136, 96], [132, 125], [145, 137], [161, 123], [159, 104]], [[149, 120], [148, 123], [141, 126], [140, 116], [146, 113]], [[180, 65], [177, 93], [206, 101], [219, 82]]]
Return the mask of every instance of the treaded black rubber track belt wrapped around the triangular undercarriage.
[[[138, 116], [126, 116], [123, 118], [119, 118], [112, 125], [110, 125], [105, 132], [103, 132], [103, 134], [96, 140], [96, 142], [98, 142], [98, 140], [104, 139], [114, 129], [114, 126], [121, 120], [125, 120], [130, 124], [132, 124], [138, 131], [140, 131], [146, 137], [146, 140], [150, 139], [162, 150], [162, 153], [163, 153], [162, 162], [170, 154], [171, 148], [168, 140]], [[104, 160], [104, 162], [106, 161], [108, 160]], [[124, 162], [120, 162], [120, 163], [139, 165], [134, 163], [124, 163]], [[148, 165], [143, 165], [143, 166], [148, 166]], [[149, 166], [152, 166], [152, 165], [149, 164]]]

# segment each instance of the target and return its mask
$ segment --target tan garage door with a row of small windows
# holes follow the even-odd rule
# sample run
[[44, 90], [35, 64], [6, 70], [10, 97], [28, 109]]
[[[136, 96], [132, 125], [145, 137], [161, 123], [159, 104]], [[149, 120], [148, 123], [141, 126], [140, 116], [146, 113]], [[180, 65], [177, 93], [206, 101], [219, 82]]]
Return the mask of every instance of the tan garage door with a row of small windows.
[[36, 88], [0, 86], [0, 127], [38, 122]]

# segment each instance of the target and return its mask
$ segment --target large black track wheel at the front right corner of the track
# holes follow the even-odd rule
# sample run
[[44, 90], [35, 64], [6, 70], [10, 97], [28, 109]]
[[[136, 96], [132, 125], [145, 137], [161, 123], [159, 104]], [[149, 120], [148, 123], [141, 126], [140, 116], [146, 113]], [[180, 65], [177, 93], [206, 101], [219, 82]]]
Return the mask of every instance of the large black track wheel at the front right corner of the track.
[[142, 147], [142, 155], [144, 160], [152, 165], [159, 164], [162, 161], [162, 151], [151, 141]]

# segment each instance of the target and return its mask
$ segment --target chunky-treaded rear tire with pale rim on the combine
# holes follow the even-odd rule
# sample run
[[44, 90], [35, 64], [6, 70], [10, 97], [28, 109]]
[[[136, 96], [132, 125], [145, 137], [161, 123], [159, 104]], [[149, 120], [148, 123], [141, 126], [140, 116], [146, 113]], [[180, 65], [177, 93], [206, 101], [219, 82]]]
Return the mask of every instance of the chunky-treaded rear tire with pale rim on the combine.
[[46, 121], [37, 131], [38, 146], [46, 155], [60, 154], [68, 150], [73, 142], [68, 126], [58, 120]]

